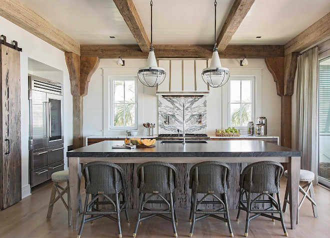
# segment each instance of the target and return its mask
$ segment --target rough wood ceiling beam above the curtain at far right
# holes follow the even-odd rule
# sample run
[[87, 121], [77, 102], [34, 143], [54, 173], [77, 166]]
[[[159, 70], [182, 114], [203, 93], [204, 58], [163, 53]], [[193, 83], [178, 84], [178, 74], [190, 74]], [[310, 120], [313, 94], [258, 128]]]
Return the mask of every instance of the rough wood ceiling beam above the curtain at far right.
[[285, 55], [300, 52], [330, 36], [330, 12], [284, 44]]

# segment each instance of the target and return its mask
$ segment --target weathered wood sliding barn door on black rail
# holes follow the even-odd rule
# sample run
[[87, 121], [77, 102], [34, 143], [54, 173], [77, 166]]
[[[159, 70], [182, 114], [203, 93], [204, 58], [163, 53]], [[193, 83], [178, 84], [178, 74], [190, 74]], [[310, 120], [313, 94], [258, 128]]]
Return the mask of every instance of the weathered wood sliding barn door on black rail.
[[0, 137], [0, 209], [4, 209], [21, 200], [21, 146], [19, 51], [3, 44], [0, 44]]

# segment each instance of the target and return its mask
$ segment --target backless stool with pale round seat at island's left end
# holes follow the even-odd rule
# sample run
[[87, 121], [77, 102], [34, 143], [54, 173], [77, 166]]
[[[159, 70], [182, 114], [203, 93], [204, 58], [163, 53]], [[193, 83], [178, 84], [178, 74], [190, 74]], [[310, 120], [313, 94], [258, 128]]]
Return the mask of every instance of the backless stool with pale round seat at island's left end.
[[[48, 205], [47, 220], [51, 219], [52, 208], [54, 207], [54, 203], [60, 198], [67, 210], [68, 225], [71, 225], [71, 201], [70, 201], [70, 185], [68, 179], [68, 170], [62, 170], [52, 173], [51, 181], [53, 183], [52, 183], [50, 201]], [[58, 185], [58, 182], [66, 182], [66, 187], [63, 188], [62, 186]], [[58, 194], [57, 196], [56, 196], [56, 192]], [[65, 193], [67, 193], [67, 203], [63, 198], [63, 195]], [[80, 213], [82, 213], [80, 194], [79, 194], [79, 211]]]

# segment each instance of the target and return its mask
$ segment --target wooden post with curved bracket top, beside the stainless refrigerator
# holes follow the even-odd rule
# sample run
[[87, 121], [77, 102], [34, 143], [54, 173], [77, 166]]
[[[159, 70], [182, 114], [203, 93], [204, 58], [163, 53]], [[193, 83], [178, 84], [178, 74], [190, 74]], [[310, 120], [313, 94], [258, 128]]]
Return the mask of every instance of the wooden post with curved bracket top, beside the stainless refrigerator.
[[80, 57], [72, 52], [65, 52], [66, 66], [69, 71], [73, 103], [73, 149], [83, 146], [82, 97], [87, 95], [91, 75], [99, 64], [98, 57]]

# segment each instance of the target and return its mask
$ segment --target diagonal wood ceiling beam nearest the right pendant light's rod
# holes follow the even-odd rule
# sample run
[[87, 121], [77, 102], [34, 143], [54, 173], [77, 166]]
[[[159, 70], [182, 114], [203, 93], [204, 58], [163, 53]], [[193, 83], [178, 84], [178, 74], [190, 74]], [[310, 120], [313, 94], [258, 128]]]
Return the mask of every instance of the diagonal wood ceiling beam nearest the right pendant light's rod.
[[254, 0], [235, 0], [231, 9], [224, 21], [222, 29], [217, 36], [216, 45], [218, 52], [223, 52], [229, 44], [233, 34], [238, 29], [238, 26], [243, 21], [245, 15], [251, 8]]

